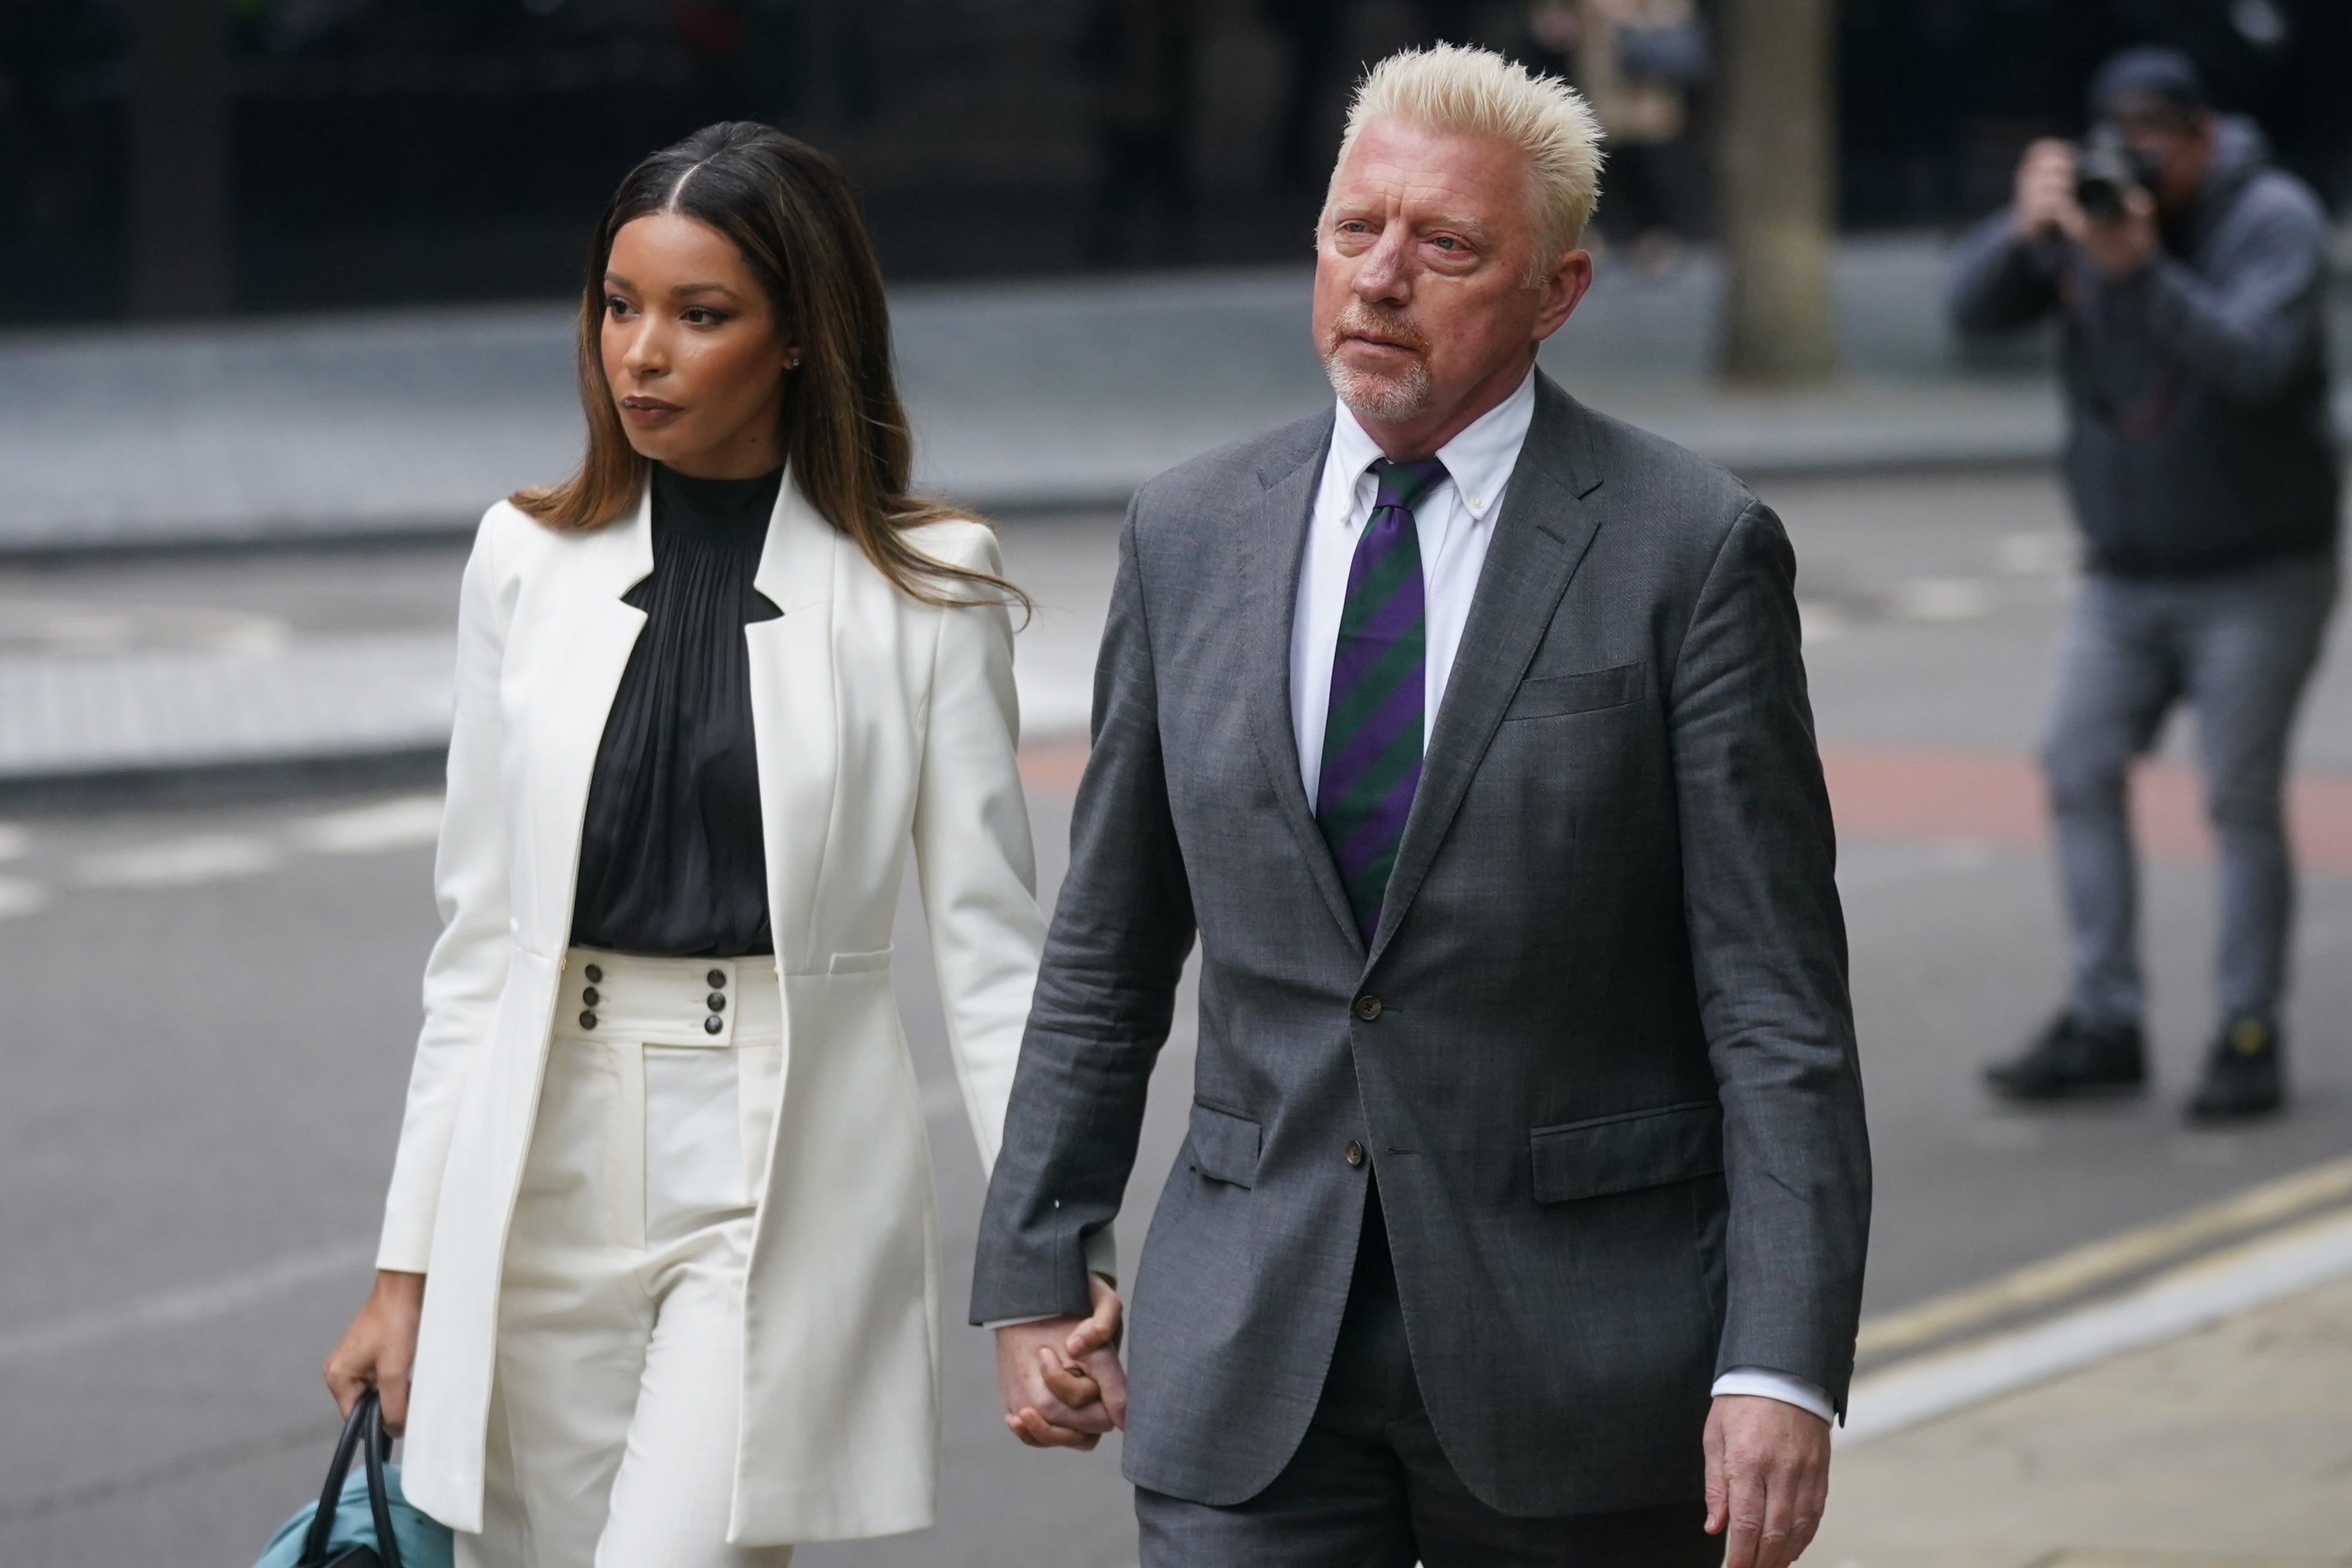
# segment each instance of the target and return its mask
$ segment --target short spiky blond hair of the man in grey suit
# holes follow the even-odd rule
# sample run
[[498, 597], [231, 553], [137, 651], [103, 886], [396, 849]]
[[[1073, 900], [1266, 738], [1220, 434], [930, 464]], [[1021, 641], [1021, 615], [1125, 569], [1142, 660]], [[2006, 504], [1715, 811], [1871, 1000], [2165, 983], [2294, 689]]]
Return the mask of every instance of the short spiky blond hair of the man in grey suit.
[[[1602, 195], [1602, 127], [1581, 92], [1494, 49], [1432, 45], [1390, 54], [1357, 85], [1338, 158], [1378, 120], [1491, 136], [1526, 153], [1534, 174], [1536, 273], [1576, 249]], [[1334, 179], [1338, 167], [1334, 165]]]

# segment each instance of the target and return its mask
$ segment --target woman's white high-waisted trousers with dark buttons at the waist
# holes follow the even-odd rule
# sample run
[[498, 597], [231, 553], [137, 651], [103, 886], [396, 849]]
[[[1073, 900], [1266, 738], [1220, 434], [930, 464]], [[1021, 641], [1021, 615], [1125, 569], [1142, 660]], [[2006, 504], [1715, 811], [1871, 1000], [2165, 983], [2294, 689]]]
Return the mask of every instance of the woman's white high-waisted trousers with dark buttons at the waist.
[[786, 1568], [729, 1547], [774, 959], [564, 961], [459, 1568]]

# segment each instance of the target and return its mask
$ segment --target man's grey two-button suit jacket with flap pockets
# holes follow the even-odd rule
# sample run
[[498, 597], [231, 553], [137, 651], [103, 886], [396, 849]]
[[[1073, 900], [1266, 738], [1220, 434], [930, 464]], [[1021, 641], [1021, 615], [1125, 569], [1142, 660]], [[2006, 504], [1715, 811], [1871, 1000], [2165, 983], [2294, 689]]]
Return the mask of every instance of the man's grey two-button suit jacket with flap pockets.
[[1117, 1211], [1197, 933], [1127, 1476], [1218, 1505], [1275, 1479], [1378, 1173], [1470, 1490], [1510, 1514], [1696, 1497], [1719, 1368], [1844, 1401], [1870, 1218], [1788, 538], [1722, 470], [1541, 381], [1367, 952], [1289, 722], [1329, 430], [1214, 451], [1129, 510], [971, 1316], [1087, 1309], [1082, 1237]]

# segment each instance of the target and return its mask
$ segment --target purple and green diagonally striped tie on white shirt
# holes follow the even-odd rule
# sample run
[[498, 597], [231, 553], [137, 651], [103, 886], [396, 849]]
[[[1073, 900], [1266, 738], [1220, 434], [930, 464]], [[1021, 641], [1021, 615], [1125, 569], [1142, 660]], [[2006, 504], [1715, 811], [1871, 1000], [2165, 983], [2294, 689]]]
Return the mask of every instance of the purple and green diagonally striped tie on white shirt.
[[1397, 865], [1404, 813], [1421, 783], [1428, 609], [1414, 508], [1437, 489], [1446, 468], [1437, 458], [1383, 458], [1371, 473], [1381, 489], [1348, 567], [1315, 788], [1315, 820], [1338, 863], [1367, 947], [1381, 926], [1388, 872]]

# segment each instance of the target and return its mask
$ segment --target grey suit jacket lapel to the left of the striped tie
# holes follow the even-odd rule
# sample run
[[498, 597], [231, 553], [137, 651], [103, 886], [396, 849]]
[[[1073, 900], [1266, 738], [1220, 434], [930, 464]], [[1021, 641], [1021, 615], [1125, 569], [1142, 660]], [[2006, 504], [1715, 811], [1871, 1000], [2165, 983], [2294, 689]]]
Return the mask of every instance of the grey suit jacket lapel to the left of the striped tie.
[[1305, 557], [1308, 517], [1315, 508], [1315, 484], [1331, 451], [1331, 421], [1312, 449], [1270, 458], [1258, 470], [1256, 515], [1244, 522], [1242, 541], [1242, 668], [1249, 672], [1249, 733], [1282, 809], [1282, 823], [1298, 842], [1298, 858], [1315, 879], [1331, 919], [1348, 943], [1364, 945], [1348, 907], [1348, 889], [1331, 865], [1331, 846], [1315, 825], [1315, 809], [1298, 780], [1298, 731], [1291, 724], [1291, 618], [1298, 611], [1298, 571]]

